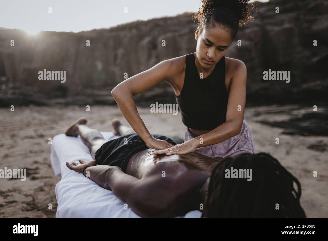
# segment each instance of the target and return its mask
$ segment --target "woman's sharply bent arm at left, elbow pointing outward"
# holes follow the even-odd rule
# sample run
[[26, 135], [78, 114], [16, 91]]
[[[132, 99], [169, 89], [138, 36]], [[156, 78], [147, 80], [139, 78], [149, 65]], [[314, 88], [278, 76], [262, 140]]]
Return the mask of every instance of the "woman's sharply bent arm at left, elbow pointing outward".
[[139, 116], [133, 96], [152, 88], [162, 81], [172, 79], [171, 76], [176, 74], [177, 69], [173, 60], [164, 60], [154, 67], [119, 83], [112, 90], [112, 96], [121, 110], [122, 115], [149, 148], [162, 150], [172, 147], [173, 145], [167, 141], [155, 139], [151, 136], [145, 123]]

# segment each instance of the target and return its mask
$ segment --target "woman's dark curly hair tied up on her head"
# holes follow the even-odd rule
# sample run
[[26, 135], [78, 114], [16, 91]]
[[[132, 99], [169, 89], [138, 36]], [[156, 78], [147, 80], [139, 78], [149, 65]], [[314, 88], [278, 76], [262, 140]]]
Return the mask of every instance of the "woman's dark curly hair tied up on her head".
[[234, 38], [239, 26], [245, 25], [252, 18], [250, 9], [254, 9], [249, 0], [202, 0], [202, 6], [194, 14], [194, 22], [197, 21], [199, 33], [204, 28], [210, 28], [215, 24], [231, 29]]

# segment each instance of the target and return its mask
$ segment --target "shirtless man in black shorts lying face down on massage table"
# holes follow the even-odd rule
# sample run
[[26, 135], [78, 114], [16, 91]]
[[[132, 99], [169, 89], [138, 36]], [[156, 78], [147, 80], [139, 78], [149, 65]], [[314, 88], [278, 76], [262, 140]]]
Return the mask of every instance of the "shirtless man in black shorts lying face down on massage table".
[[[176, 217], [192, 210], [206, 218], [305, 217], [300, 183], [269, 154], [224, 159], [195, 152], [154, 155], [156, 150], [118, 120], [112, 125], [121, 137], [113, 140], [86, 123], [79, 118], [65, 134], [80, 135], [94, 159], [66, 165], [113, 191], [141, 217]], [[152, 136], [176, 144], [166, 136]]]

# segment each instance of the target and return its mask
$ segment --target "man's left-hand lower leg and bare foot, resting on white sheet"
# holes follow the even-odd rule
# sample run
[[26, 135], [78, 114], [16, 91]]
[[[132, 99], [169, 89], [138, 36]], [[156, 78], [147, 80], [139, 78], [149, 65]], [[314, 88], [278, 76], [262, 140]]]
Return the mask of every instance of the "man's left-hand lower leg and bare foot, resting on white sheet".
[[104, 139], [98, 130], [86, 126], [86, 123], [87, 119], [79, 118], [67, 128], [65, 134], [72, 137], [80, 135], [82, 142], [89, 148], [91, 156], [94, 158], [96, 151], [108, 140]]

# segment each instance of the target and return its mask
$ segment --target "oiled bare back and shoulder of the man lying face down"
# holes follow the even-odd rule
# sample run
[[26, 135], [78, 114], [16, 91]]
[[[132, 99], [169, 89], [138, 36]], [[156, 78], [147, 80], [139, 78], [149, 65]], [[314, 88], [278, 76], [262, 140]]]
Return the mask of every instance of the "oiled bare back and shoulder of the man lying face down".
[[[154, 155], [154, 149], [136, 153], [130, 158], [125, 173], [138, 179], [151, 179], [156, 187], [153, 203], [169, 203], [159, 217], [175, 217], [203, 204], [200, 189], [213, 168], [223, 158], [211, 158], [192, 152], [185, 155]], [[152, 188], [152, 187], [150, 187]]]

